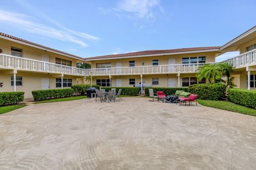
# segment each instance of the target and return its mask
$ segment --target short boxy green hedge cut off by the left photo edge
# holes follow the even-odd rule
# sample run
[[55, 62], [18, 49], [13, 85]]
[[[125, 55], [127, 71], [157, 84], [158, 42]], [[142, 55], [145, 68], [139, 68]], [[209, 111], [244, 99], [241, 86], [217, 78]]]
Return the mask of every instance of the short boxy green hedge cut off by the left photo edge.
[[24, 92], [0, 92], [0, 106], [18, 104], [24, 100]]

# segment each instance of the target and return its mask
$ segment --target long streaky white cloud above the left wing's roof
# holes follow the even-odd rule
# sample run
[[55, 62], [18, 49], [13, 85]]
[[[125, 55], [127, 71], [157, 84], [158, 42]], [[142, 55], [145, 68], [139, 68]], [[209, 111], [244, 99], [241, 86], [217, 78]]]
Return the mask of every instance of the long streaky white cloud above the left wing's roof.
[[0, 24], [9, 25], [13, 28], [23, 29], [27, 32], [33, 32], [44, 37], [69, 41], [70, 43], [76, 43], [82, 47], [87, 47], [88, 45], [81, 38], [98, 40], [97, 37], [87, 35], [83, 32], [75, 32], [67, 28], [65, 29], [64, 27], [60, 29], [49, 27], [47, 25], [38, 23], [35, 21], [35, 18], [22, 13], [0, 10]]

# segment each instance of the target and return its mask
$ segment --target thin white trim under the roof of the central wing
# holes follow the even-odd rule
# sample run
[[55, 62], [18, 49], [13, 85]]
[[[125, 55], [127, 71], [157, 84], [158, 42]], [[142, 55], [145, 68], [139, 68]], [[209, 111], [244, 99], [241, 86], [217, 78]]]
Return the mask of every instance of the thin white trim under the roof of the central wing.
[[190, 53], [203, 53], [203, 52], [215, 52], [219, 51], [220, 49], [208, 49], [208, 50], [195, 50], [195, 51], [188, 51], [188, 52], [177, 52], [177, 53], [160, 53], [160, 54], [147, 54], [147, 55], [134, 55], [134, 56], [125, 56], [125, 57], [109, 57], [109, 58], [95, 58], [95, 59], [85, 59], [85, 61], [98, 61], [98, 60], [115, 60], [115, 59], [122, 59], [122, 58], [137, 58], [137, 57], [153, 57], [153, 56], [165, 56], [165, 55], [175, 55], [175, 54], [190, 54]]

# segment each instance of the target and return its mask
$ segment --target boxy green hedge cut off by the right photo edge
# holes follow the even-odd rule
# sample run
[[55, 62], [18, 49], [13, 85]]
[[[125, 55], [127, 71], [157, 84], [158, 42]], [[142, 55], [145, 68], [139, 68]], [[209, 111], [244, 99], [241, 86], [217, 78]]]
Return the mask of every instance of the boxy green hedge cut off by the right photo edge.
[[[229, 89], [228, 98], [235, 104], [256, 109], [256, 91], [244, 89]], [[256, 111], [255, 111], [256, 112]]]

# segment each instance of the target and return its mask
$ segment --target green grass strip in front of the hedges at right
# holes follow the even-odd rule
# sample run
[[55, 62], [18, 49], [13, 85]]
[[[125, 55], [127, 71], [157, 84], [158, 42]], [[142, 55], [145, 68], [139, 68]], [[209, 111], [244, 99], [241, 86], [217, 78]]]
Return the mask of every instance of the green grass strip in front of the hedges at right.
[[237, 104], [231, 103], [230, 101], [199, 100], [199, 99], [197, 101], [199, 104], [203, 106], [256, 116], [256, 109], [237, 105]]

